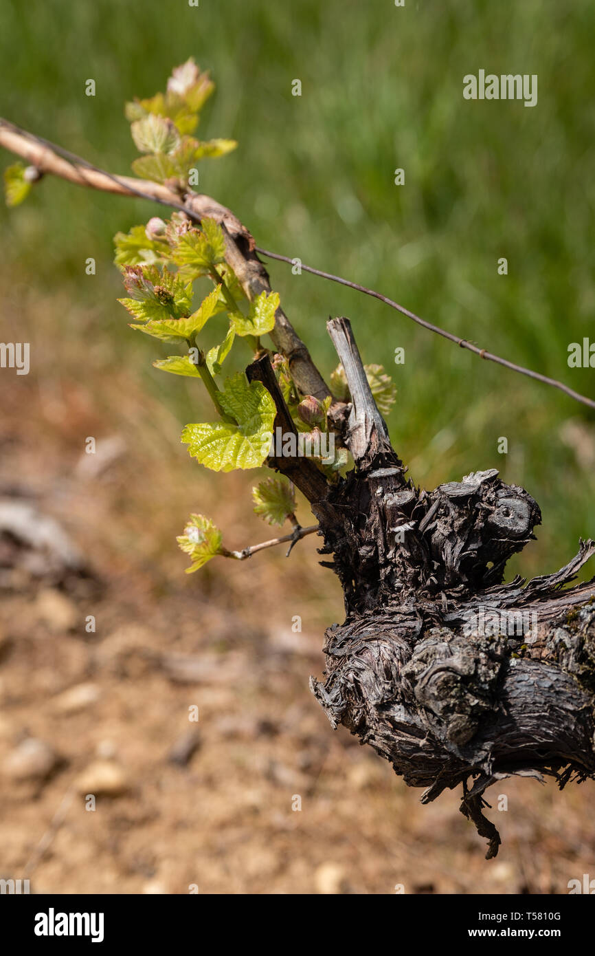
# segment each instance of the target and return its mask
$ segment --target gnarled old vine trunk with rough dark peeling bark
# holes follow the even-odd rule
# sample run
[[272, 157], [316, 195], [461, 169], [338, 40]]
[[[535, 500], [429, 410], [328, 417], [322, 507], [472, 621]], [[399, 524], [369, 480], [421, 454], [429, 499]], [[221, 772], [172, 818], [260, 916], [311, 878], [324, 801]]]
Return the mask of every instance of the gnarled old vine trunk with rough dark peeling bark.
[[592, 541], [561, 571], [504, 584], [534, 538], [537, 503], [495, 469], [420, 490], [389, 441], [347, 319], [329, 322], [346, 369], [345, 441], [355, 468], [313, 503], [323, 562], [346, 620], [310, 686], [330, 724], [390, 760], [422, 801], [462, 785], [461, 812], [488, 839], [487, 787], [513, 773], [563, 787], [595, 775], [595, 579], [568, 585]]

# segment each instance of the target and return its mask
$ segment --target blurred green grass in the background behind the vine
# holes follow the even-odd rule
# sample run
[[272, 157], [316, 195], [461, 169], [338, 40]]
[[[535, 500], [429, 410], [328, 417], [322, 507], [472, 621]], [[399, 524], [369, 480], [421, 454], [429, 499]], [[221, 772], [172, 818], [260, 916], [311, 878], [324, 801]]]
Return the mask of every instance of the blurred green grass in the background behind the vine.
[[[238, 150], [201, 167], [201, 191], [257, 243], [372, 286], [460, 337], [595, 395], [567, 346], [595, 340], [595, 8], [579, 0], [201, 0], [164, 5], [0, 0], [0, 114], [126, 173], [136, 150], [123, 103], [164, 88], [194, 56], [217, 83], [199, 135]], [[462, 98], [478, 69], [537, 74], [533, 109]], [[96, 97], [85, 80], [96, 80]], [[301, 98], [291, 82], [302, 81]], [[11, 163], [4, 154], [3, 165]], [[403, 186], [393, 184], [396, 167]], [[112, 236], [159, 211], [58, 181], [0, 216], [0, 280], [93, 305], [83, 345], [147, 366], [182, 419], [191, 402], [150, 359], [116, 303]], [[97, 275], [85, 275], [94, 256]], [[508, 275], [497, 262], [508, 260]], [[270, 264], [273, 287], [326, 374], [328, 315], [349, 315], [367, 361], [393, 373], [393, 444], [417, 483], [486, 467], [542, 506], [510, 570], [554, 570], [595, 534], [595, 415], [562, 393], [481, 362], [370, 298]], [[53, 335], [76, 336], [68, 316]], [[139, 341], [138, 339], [143, 339]], [[393, 364], [405, 348], [404, 365]], [[81, 377], [84, 377], [84, 363]], [[568, 421], [571, 420], [571, 427]], [[568, 439], [571, 435], [571, 440]], [[508, 454], [497, 451], [500, 436]], [[564, 437], [565, 436], [565, 439]], [[577, 445], [581, 445], [578, 447]]]

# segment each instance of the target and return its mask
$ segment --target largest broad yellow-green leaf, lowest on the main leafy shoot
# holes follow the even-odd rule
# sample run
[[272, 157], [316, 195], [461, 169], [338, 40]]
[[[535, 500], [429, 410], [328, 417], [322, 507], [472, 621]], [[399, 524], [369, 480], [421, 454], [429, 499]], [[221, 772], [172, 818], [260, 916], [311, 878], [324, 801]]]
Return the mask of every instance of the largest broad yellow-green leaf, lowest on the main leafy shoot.
[[202, 465], [213, 471], [257, 468], [266, 460], [276, 416], [273, 402], [260, 381], [239, 372], [225, 380], [219, 396], [223, 411], [237, 424], [187, 424], [181, 441]]

